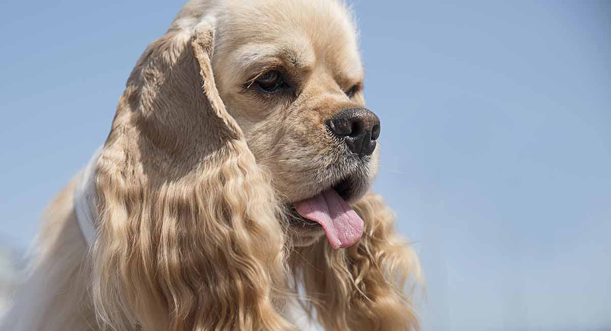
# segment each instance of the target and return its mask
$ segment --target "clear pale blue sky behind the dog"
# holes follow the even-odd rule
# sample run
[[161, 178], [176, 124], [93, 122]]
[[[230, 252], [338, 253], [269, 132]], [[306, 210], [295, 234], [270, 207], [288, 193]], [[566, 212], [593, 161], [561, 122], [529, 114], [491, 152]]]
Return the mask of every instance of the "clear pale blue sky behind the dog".
[[[2, 2], [1, 241], [31, 242], [182, 4]], [[611, 330], [611, 2], [354, 10], [425, 330]]]

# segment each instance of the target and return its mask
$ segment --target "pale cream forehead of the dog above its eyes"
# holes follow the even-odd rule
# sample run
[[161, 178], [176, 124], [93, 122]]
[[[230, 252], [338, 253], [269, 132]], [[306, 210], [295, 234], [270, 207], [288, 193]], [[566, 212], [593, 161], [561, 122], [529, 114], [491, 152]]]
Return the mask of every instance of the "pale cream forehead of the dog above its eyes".
[[334, 0], [231, 4], [218, 29], [235, 65], [283, 57], [298, 67], [324, 64], [346, 79], [363, 75], [353, 21]]

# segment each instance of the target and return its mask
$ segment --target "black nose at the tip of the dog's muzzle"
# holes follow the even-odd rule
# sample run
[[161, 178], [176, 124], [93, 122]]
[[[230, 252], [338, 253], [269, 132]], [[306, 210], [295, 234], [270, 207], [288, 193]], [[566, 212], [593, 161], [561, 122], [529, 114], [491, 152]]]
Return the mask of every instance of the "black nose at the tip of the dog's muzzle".
[[376, 139], [380, 136], [380, 120], [369, 109], [343, 109], [327, 120], [326, 125], [359, 156], [371, 155], [376, 149]]

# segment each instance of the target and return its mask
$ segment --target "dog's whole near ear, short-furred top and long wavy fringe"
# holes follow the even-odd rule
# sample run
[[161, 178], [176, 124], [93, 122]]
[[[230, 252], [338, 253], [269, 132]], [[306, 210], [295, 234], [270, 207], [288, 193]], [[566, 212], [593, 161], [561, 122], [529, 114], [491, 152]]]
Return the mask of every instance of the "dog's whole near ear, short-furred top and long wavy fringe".
[[216, 90], [214, 24], [148, 46], [97, 164], [92, 299], [114, 330], [291, 327], [278, 203]]

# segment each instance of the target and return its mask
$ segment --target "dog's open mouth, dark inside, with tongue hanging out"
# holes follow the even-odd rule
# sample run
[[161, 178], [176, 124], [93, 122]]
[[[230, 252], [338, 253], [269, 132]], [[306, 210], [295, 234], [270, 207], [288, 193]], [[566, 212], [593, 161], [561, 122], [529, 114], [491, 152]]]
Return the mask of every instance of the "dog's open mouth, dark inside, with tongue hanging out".
[[351, 178], [339, 181], [313, 197], [289, 205], [289, 223], [321, 226], [334, 248], [352, 246], [363, 234], [363, 220], [346, 202], [354, 192]]

